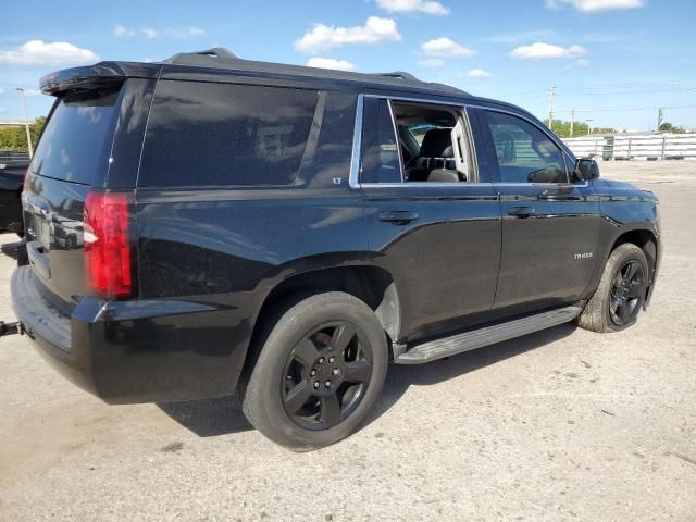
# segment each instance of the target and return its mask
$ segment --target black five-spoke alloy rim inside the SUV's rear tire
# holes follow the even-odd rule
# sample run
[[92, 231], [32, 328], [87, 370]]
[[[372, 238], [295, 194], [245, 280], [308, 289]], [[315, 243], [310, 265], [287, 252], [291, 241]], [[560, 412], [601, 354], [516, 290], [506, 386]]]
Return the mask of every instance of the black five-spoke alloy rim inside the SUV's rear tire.
[[300, 340], [283, 372], [282, 400], [299, 426], [330, 430], [356, 411], [372, 377], [373, 355], [346, 321], [318, 326]]

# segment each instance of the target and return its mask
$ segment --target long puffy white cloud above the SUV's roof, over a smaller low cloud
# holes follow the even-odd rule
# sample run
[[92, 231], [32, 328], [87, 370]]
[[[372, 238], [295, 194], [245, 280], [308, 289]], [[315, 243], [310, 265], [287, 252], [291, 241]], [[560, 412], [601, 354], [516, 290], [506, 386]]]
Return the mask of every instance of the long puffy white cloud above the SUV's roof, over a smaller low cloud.
[[308, 54], [348, 45], [372, 45], [401, 39], [396, 22], [391, 18], [370, 16], [363, 26], [335, 27], [316, 24], [295, 42], [295, 49]]

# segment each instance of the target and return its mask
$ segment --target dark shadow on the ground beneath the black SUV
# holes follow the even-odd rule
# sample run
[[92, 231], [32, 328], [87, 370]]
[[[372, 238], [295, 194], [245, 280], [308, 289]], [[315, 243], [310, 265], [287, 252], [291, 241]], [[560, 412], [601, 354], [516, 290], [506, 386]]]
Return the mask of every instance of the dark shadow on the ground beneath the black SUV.
[[[481, 368], [495, 364], [549, 343], [568, 337], [575, 331], [574, 323], [567, 323], [517, 339], [498, 343], [427, 364], [390, 364], [382, 397], [369, 414], [364, 425], [388, 411], [409, 386], [428, 386], [448, 381]], [[212, 437], [253, 430], [245, 419], [236, 398], [191, 400], [158, 405], [173, 420], [200, 437]]]

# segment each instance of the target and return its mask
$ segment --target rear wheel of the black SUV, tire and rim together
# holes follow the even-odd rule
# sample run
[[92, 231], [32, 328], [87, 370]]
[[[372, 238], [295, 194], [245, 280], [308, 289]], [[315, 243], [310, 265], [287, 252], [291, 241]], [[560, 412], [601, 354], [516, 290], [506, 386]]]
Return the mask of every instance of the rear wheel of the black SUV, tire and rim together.
[[247, 420], [294, 451], [350, 435], [387, 372], [386, 334], [374, 312], [349, 294], [332, 291], [300, 300], [270, 326], [239, 386]]

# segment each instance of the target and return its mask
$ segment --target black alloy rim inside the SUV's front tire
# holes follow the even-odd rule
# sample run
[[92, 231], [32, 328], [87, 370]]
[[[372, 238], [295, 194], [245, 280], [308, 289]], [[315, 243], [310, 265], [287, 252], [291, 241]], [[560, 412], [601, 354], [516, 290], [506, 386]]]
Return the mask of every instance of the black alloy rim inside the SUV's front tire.
[[617, 326], [633, 322], [641, 311], [646, 277], [643, 264], [630, 259], [616, 273], [609, 293], [609, 314]]

